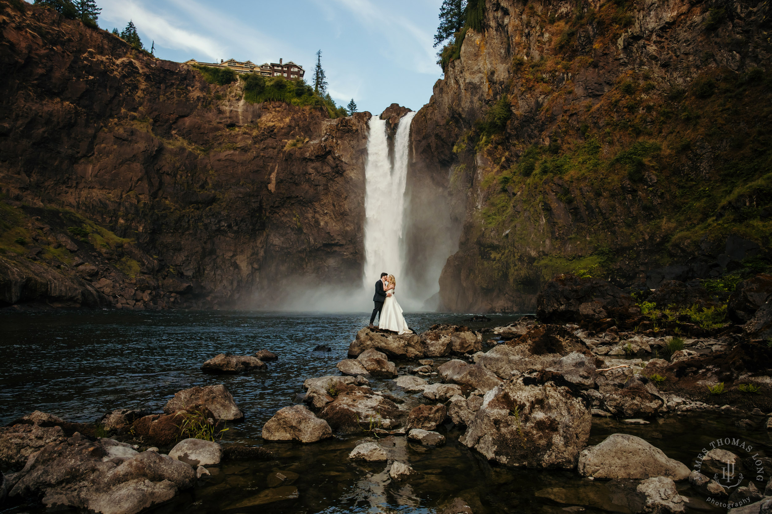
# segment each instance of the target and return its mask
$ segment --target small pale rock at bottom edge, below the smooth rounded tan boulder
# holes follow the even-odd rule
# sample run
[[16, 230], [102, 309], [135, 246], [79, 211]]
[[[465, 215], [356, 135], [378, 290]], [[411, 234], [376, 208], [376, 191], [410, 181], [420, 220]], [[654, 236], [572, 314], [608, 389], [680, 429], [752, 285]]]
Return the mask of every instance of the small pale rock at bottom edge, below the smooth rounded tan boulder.
[[672, 479], [656, 476], [651, 479], [618, 479], [609, 482], [614, 502], [627, 506], [631, 512], [641, 514], [666, 514], [686, 512], [683, 498], [675, 489]]

